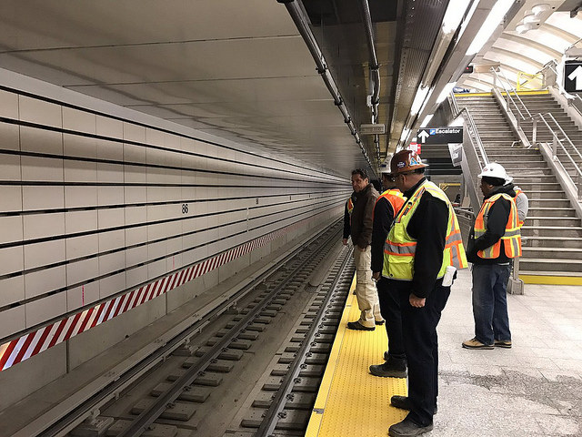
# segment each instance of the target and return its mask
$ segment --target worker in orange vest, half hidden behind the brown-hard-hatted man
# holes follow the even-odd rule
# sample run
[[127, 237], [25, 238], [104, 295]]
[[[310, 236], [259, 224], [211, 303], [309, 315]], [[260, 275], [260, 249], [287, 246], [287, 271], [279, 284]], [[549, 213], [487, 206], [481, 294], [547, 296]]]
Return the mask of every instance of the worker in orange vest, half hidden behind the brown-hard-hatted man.
[[380, 312], [386, 320], [388, 350], [384, 352], [385, 362], [370, 366], [370, 373], [376, 376], [406, 378], [406, 354], [402, 341], [402, 320], [400, 302], [397, 295], [387, 287], [388, 280], [382, 278], [384, 264], [384, 243], [396, 213], [405, 202], [402, 193], [396, 188], [394, 175], [390, 170], [392, 154], [380, 165], [382, 187], [385, 191], [376, 199], [374, 223], [372, 226], [372, 278], [376, 280]]

